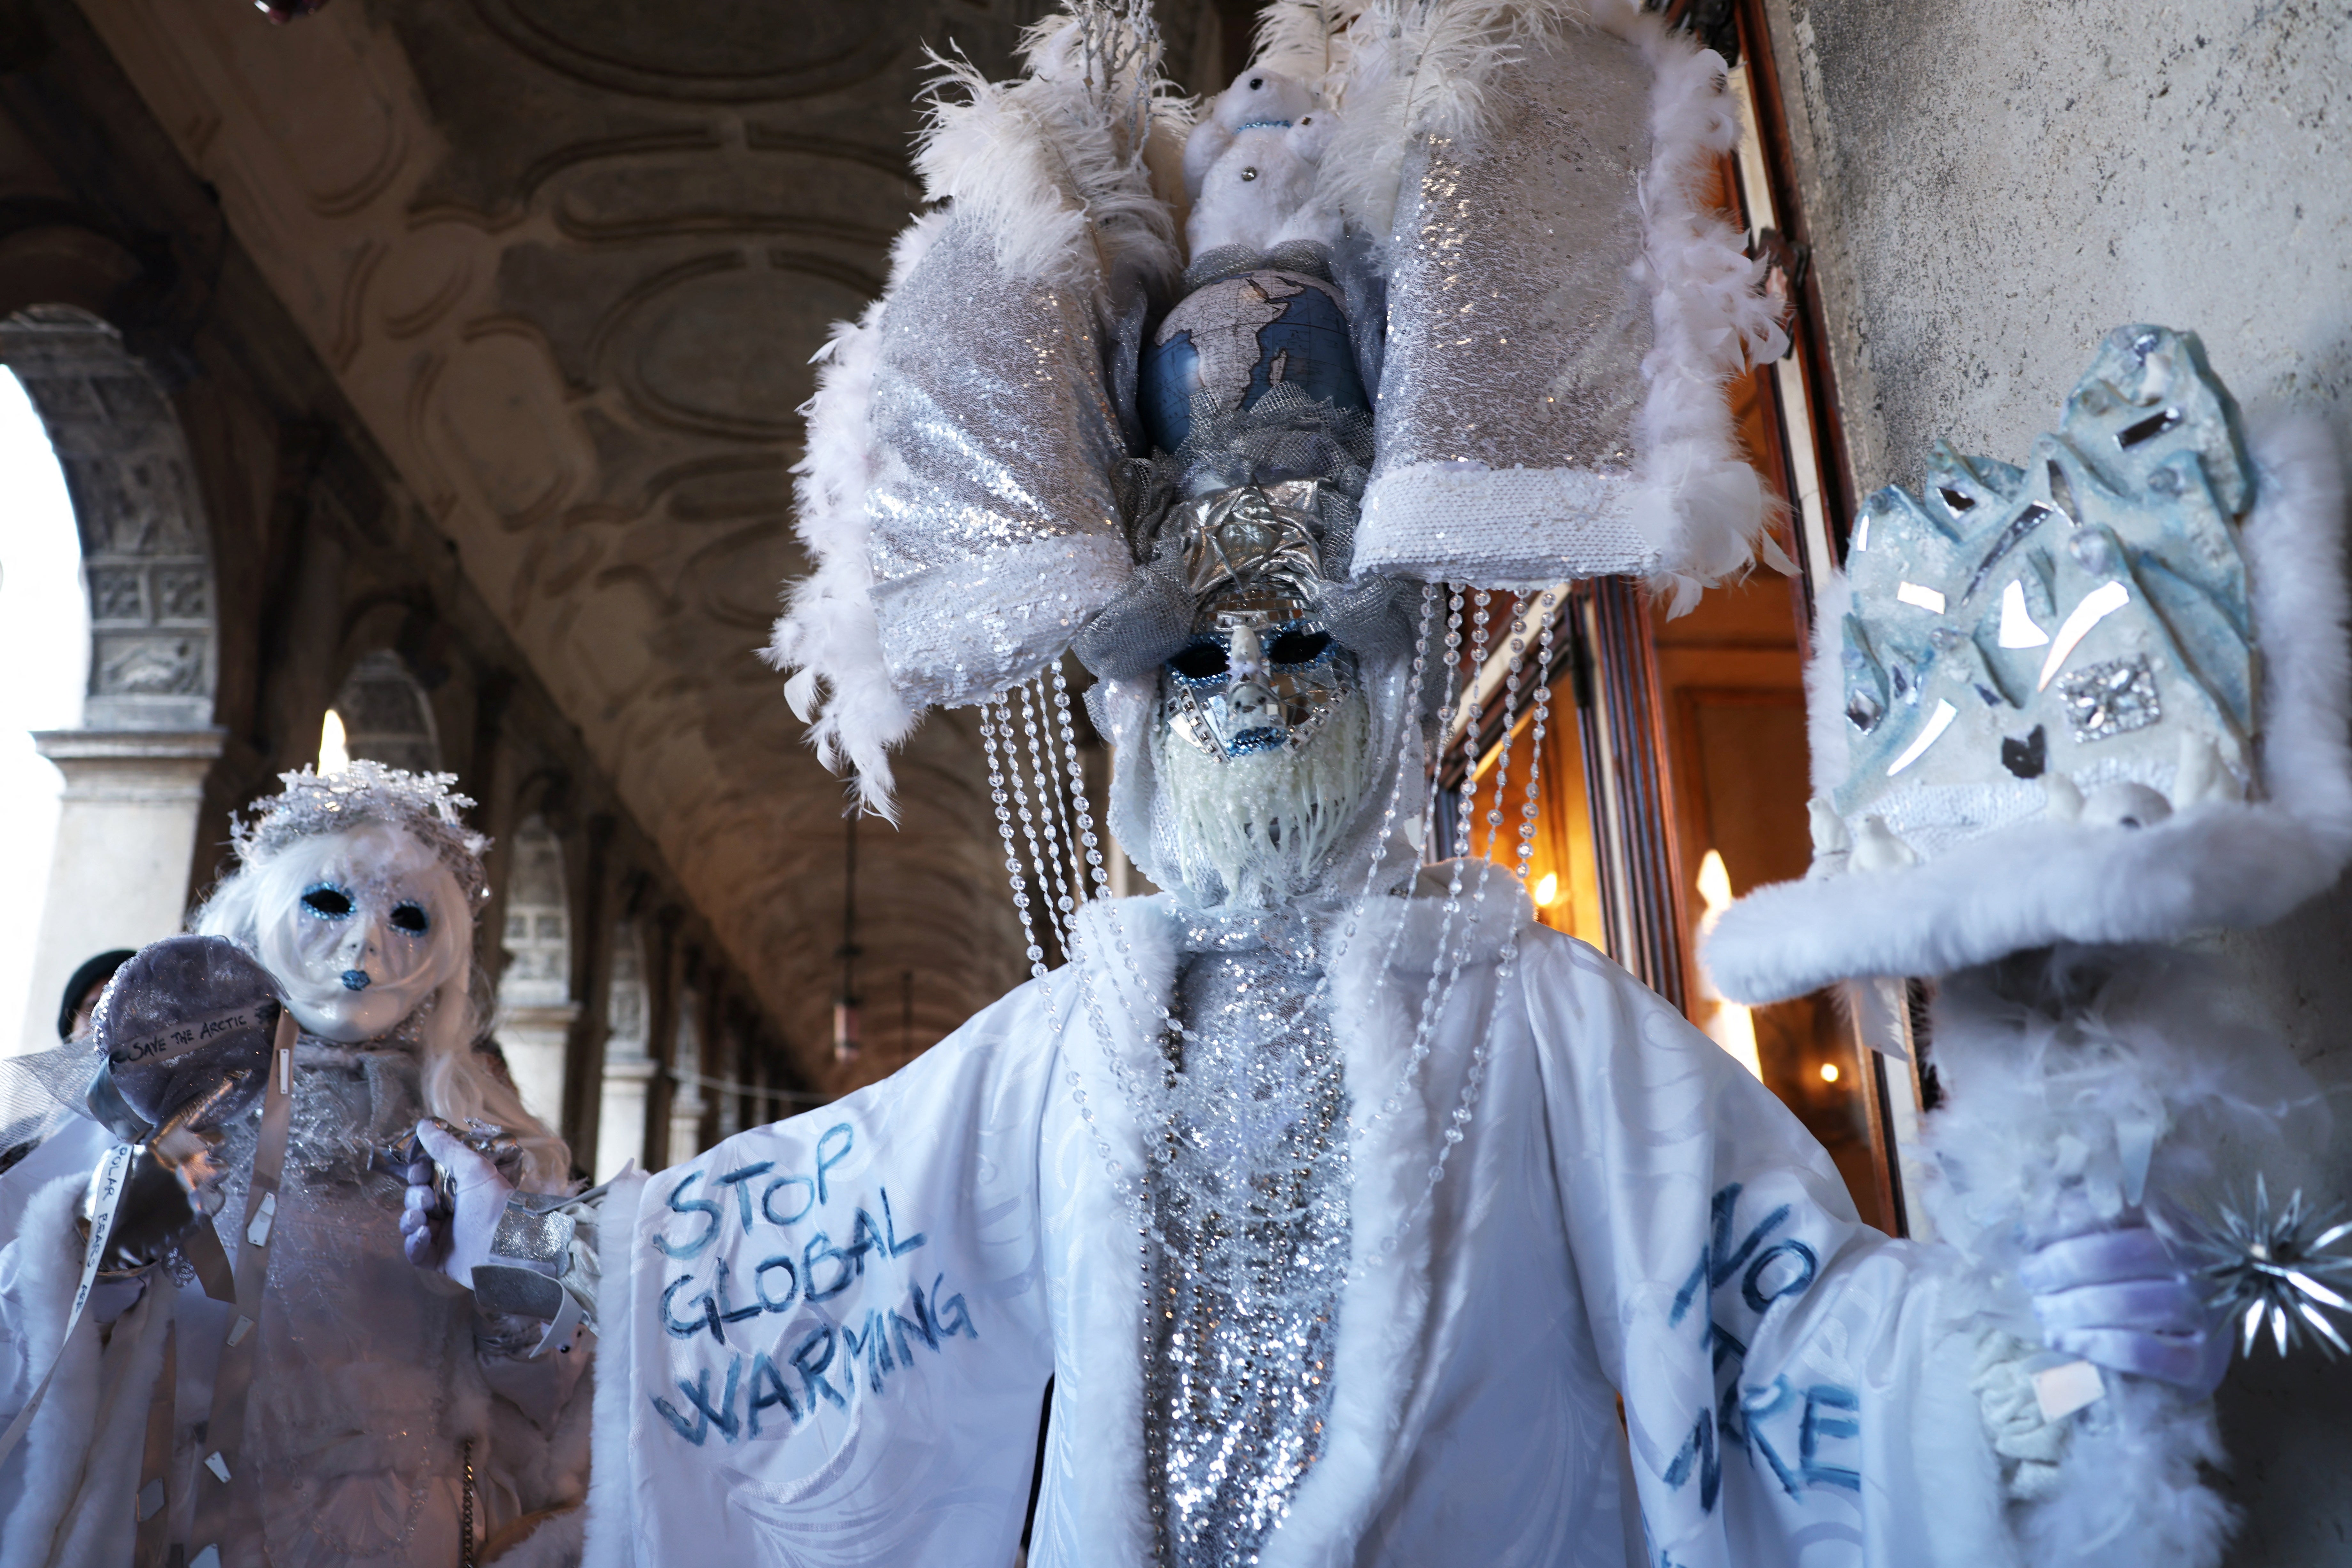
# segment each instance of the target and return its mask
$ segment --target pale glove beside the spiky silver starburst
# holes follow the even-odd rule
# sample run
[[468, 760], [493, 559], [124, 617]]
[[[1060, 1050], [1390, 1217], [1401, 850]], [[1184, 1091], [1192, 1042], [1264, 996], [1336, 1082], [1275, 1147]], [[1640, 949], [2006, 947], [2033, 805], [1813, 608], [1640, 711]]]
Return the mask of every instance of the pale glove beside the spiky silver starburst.
[[2145, 1225], [2051, 1241], [2018, 1267], [2051, 1349], [2206, 1396], [2230, 1335]]

